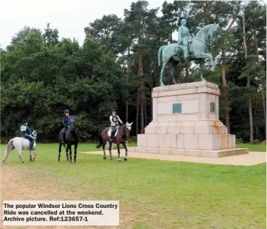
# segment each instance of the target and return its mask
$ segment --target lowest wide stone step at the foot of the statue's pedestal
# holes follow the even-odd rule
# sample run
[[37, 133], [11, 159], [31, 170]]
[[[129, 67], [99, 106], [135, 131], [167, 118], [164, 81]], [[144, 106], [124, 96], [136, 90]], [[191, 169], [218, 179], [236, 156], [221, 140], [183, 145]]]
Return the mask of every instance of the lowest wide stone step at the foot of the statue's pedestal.
[[232, 148], [226, 150], [186, 150], [173, 148], [145, 148], [145, 147], [131, 147], [128, 152], [144, 152], [155, 153], [162, 155], [184, 155], [194, 157], [227, 157], [232, 155], [243, 155], [249, 152], [246, 148]]

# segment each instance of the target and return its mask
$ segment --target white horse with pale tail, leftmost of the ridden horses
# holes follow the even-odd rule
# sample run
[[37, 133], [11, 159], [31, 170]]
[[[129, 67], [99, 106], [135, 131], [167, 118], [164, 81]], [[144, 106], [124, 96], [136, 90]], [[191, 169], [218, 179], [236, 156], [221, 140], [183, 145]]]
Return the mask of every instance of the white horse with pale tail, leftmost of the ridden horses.
[[[34, 138], [34, 145], [32, 146], [32, 150], [29, 150], [29, 140], [27, 138], [20, 138], [15, 137], [8, 141], [8, 145], [6, 146], [6, 151], [4, 152], [4, 159], [3, 163], [6, 163], [6, 159], [8, 157], [8, 154], [14, 150], [15, 148], [18, 150], [18, 157], [20, 157], [22, 163], [25, 163], [25, 160], [22, 159], [22, 150], [29, 150], [29, 161], [32, 162], [36, 158], [36, 138], [37, 138], [37, 131], [32, 131], [32, 134], [30, 135], [32, 138]], [[34, 159], [32, 159], [32, 151], [34, 151]]]

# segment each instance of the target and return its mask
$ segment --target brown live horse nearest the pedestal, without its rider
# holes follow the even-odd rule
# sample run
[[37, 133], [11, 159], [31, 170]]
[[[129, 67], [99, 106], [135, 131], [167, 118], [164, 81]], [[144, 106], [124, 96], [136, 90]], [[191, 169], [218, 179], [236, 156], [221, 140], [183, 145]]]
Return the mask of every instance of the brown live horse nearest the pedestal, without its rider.
[[[132, 123], [126, 123], [123, 126], [116, 126], [117, 127], [117, 131], [116, 131], [116, 145], [117, 145], [117, 149], [118, 149], [118, 162], [121, 162], [121, 152], [120, 152], [120, 145], [122, 144], [123, 147], [125, 148], [125, 156], [124, 156], [124, 160], [127, 161], [128, 159], [128, 150], [125, 144], [125, 140], [127, 138], [130, 137], [130, 130], [132, 128]], [[100, 132], [98, 138], [100, 140], [100, 143], [96, 146], [97, 149], [99, 149], [102, 145], [103, 148], [103, 158], [106, 159], [106, 152], [104, 150], [105, 145], [107, 144], [107, 141], [109, 141], [109, 157], [110, 159], [113, 159], [112, 154], [111, 154], [111, 137], [110, 137], [110, 133], [111, 130], [109, 127], [107, 127], [106, 129], [104, 129], [102, 132]]]

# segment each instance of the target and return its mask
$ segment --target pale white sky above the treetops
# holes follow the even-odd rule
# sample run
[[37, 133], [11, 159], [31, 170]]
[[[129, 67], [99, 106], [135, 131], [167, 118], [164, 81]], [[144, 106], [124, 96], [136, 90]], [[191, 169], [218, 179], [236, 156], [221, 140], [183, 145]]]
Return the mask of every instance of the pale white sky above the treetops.
[[[130, 9], [131, 3], [130, 0], [1, 0], [0, 47], [6, 49], [23, 27], [44, 30], [49, 22], [50, 28], [59, 31], [60, 38], [75, 37], [83, 44], [84, 27], [111, 13], [123, 18], [123, 9]], [[163, 0], [149, 1], [149, 8], [161, 9], [162, 4]], [[177, 32], [172, 36], [177, 39]]]

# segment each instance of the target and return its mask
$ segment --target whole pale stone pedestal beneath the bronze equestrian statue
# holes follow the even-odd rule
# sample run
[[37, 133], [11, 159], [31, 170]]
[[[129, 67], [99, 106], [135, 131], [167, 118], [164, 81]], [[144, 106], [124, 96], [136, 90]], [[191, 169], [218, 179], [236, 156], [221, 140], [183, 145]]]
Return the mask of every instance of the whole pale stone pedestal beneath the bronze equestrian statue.
[[248, 153], [219, 121], [219, 89], [207, 81], [153, 89], [153, 121], [137, 135], [132, 152], [200, 157]]

